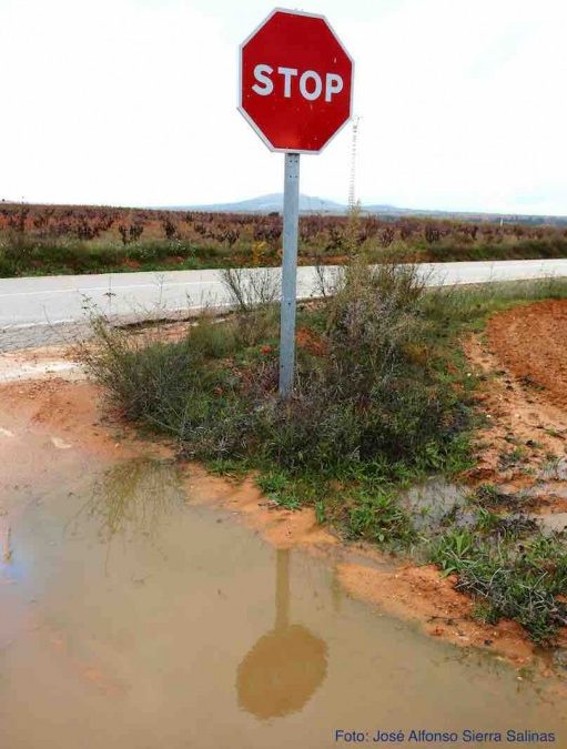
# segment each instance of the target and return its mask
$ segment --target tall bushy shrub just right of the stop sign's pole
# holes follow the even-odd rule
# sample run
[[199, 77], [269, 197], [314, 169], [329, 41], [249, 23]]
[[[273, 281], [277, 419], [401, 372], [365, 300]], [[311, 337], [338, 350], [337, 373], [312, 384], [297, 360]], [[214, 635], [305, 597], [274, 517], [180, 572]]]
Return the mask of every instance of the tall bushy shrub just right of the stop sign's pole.
[[432, 445], [443, 452], [463, 428], [465, 409], [439, 377], [424, 294], [411, 266], [346, 271], [325, 305], [325, 355], [301, 355], [293, 398], [261, 408], [271, 457], [326, 470], [378, 456], [417, 465], [427, 463]]

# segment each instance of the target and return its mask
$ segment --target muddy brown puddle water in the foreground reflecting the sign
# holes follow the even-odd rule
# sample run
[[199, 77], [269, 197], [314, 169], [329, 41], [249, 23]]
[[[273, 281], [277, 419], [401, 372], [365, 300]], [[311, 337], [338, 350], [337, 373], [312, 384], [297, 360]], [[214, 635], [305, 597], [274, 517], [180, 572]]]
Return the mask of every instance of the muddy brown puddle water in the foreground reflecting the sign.
[[378, 728], [567, 746], [559, 676], [518, 680], [348, 598], [331, 561], [192, 506], [166, 462], [52, 455], [0, 499], [1, 749], [317, 749]]

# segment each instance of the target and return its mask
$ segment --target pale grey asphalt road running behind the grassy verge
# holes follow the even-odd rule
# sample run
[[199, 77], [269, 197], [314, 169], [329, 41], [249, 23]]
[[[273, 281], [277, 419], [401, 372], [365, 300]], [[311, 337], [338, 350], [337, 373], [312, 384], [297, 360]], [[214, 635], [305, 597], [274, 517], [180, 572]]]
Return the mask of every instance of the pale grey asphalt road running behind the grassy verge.
[[[567, 275], [567, 259], [431, 263], [419, 269], [432, 285], [486, 283]], [[315, 269], [300, 267], [297, 295], [307, 297], [316, 294], [316, 289]], [[222, 306], [227, 298], [217, 271], [0, 279], [0, 351], [12, 348], [7, 342], [23, 340], [26, 331], [39, 341], [41, 328], [84, 324], [88, 307], [134, 320], [205, 304]]]

